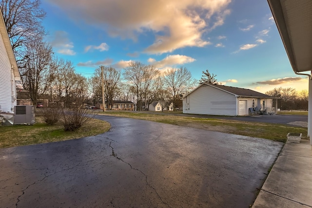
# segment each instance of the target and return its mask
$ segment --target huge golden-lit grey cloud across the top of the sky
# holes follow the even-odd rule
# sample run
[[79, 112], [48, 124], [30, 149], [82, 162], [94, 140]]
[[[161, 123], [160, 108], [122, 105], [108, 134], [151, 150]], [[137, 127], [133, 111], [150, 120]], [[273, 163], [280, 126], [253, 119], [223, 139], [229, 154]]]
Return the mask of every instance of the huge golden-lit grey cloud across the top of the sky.
[[[112, 37], [137, 39], [153, 32], [154, 43], [144, 52], [162, 54], [183, 47], [211, 44], [203, 33], [223, 25], [232, 0], [48, 0], [77, 23], [85, 22]], [[139, 12], [138, 12], [139, 11]]]

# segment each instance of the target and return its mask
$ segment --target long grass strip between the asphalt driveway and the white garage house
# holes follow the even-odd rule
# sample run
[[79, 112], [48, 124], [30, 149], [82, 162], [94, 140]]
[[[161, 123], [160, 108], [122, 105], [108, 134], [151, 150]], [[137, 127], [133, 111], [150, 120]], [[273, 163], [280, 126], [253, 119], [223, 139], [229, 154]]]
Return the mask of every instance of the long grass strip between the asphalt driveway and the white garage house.
[[276, 141], [286, 142], [287, 133], [302, 133], [303, 138], [307, 139], [307, 128], [292, 127], [283, 124], [244, 122], [237, 120], [227, 120], [220, 118], [197, 118], [189, 116], [177, 116], [168, 113], [150, 114], [150, 113], [132, 113], [106, 111], [99, 112], [100, 114], [114, 115], [127, 118], [136, 118], [142, 120], [155, 121], [159, 123], [173, 124], [177, 126], [192, 127], [197, 129], [233, 133], [238, 135], [260, 137]]

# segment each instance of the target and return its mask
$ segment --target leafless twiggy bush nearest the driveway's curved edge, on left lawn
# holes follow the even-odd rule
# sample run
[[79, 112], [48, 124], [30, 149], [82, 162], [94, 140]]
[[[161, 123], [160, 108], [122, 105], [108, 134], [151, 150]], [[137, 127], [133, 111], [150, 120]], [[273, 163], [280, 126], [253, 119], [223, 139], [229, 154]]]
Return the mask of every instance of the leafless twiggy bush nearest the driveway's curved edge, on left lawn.
[[63, 110], [65, 131], [73, 132], [78, 130], [92, 118], [89, 113], [91, 112], [88, 109], [72, 108]]

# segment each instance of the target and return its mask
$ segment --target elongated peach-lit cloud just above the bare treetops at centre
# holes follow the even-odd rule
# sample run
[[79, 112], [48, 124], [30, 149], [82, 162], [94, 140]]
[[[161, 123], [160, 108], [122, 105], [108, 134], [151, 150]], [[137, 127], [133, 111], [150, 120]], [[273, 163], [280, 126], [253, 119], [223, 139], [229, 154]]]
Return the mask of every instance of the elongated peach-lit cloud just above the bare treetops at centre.
[[[152, 58], [153, 59], [153, 58]], [[150, 59], [152, 61], [152, 59]], [[169, 55], [160, 61], [153, 61], [153, 65], [156, 68], [163, 68], [168, 66], [181, 65], [184, 63], [194, 62], [196, 59], [192, 57], [187, 57], [183, 55]]]

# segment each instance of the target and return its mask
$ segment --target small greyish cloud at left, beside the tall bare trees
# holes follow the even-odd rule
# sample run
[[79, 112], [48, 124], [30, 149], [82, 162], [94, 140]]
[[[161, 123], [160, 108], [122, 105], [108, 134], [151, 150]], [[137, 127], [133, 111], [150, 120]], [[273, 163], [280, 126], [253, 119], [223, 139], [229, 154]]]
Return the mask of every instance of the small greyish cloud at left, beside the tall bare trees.
[[69, 40], [68, 33], [65, 31], [56, 31], [53, 36], [48, 38], [48, 41], [59, 54], [76, 55], [76, 52], [72, 50], [72, 48], [74, 48], [74, 43]]

